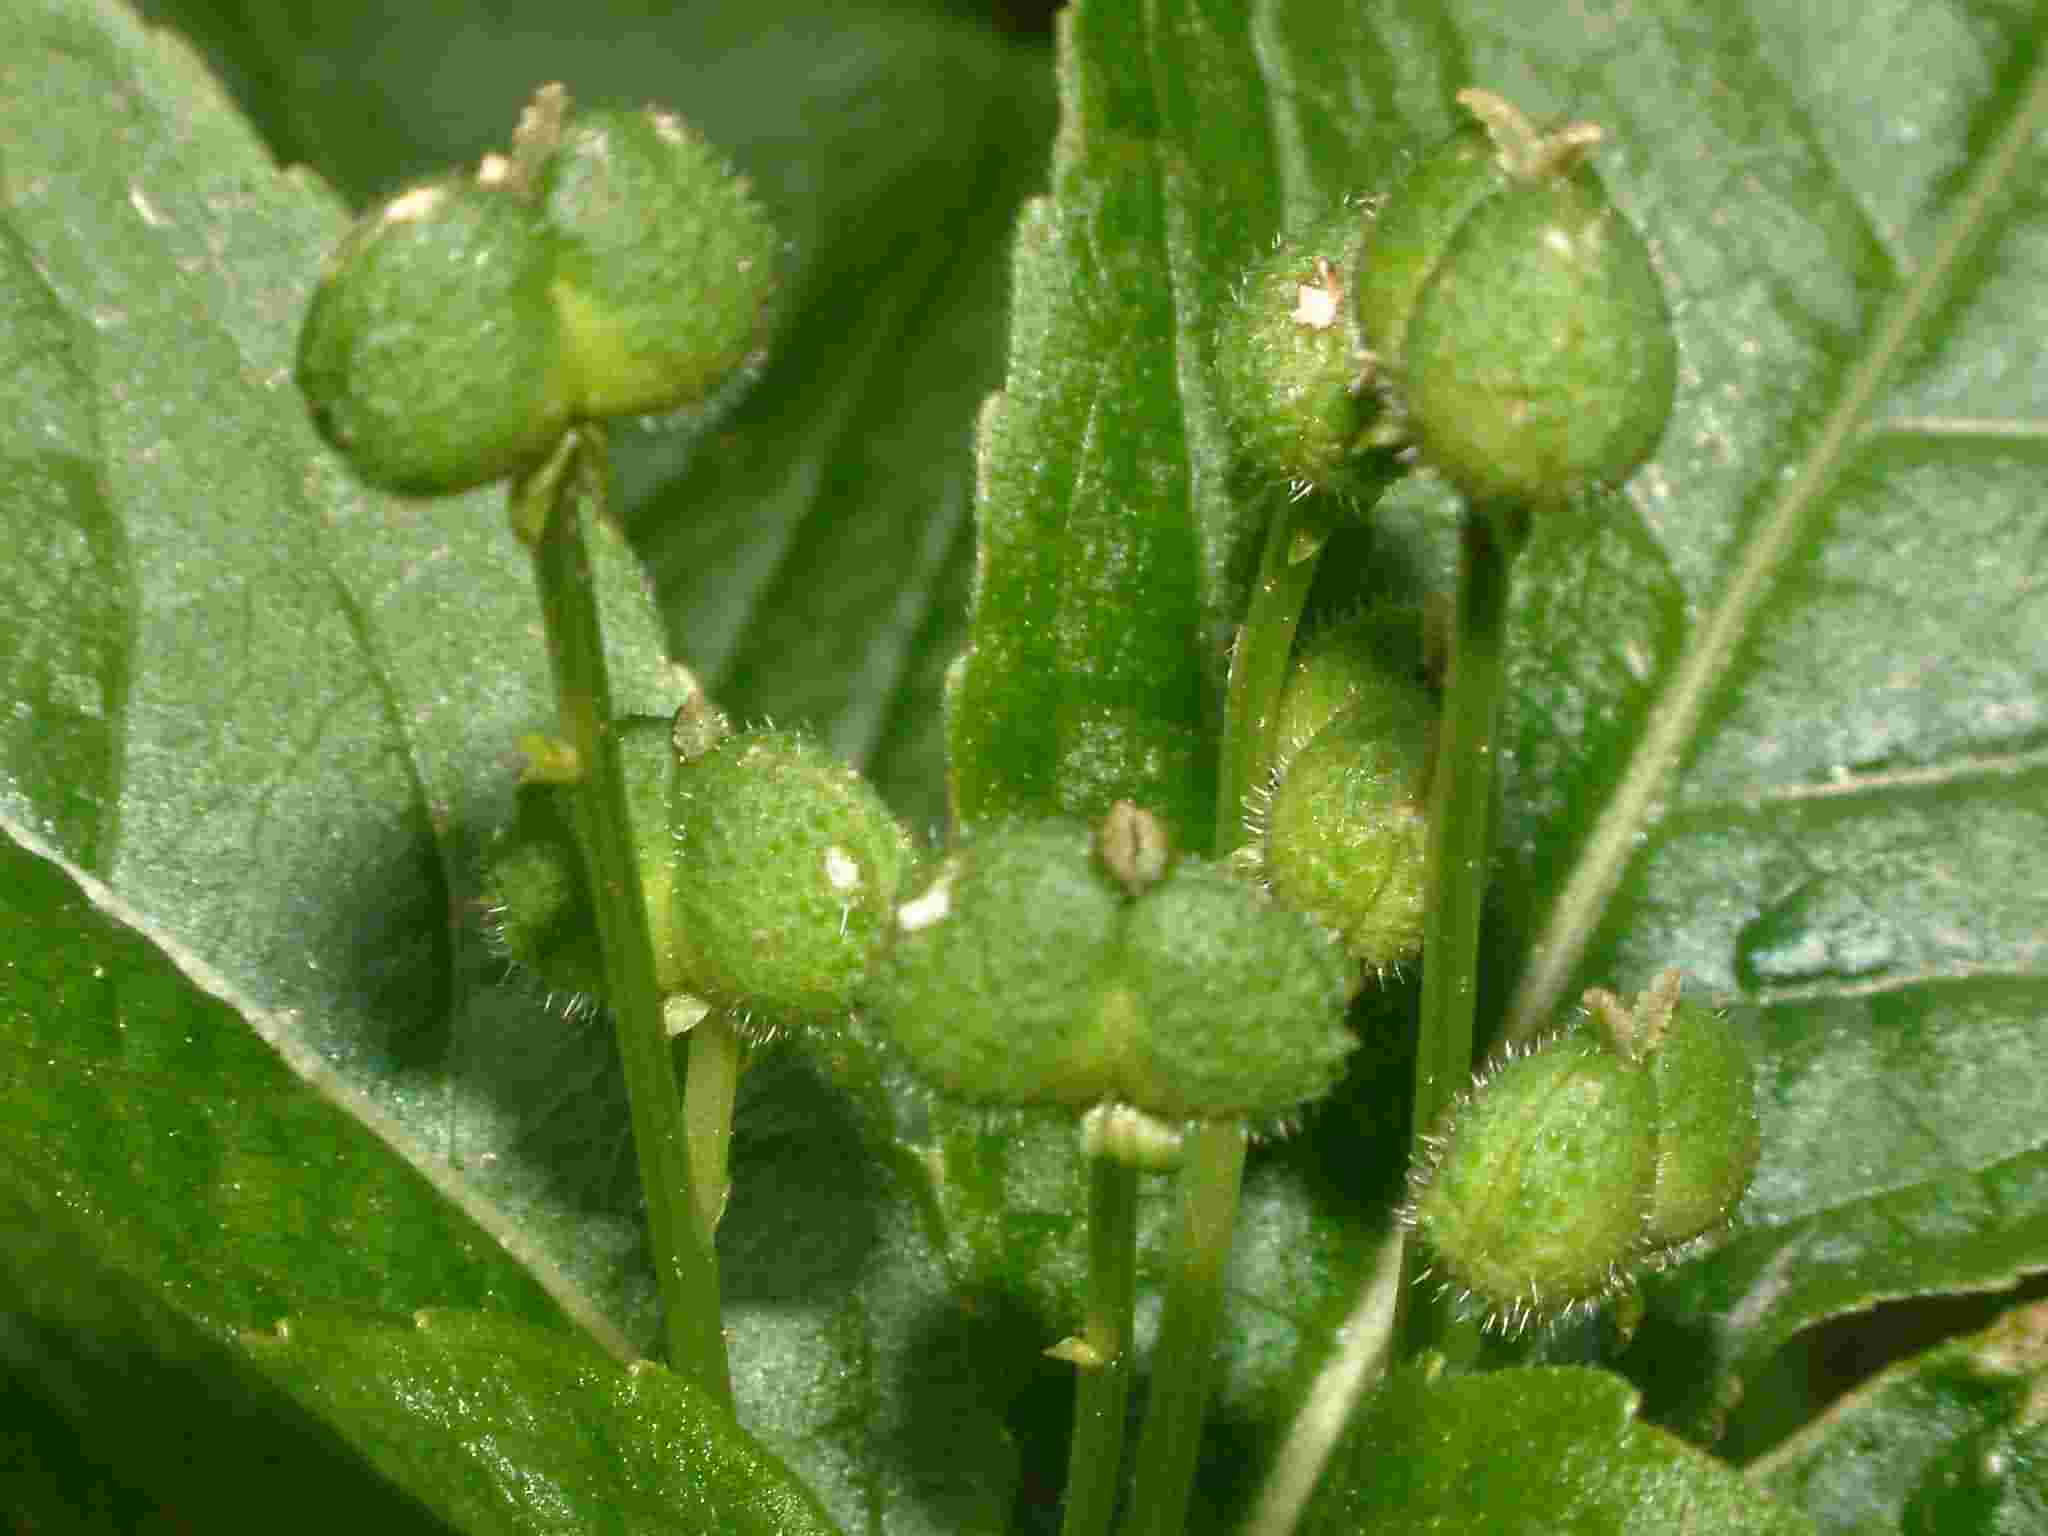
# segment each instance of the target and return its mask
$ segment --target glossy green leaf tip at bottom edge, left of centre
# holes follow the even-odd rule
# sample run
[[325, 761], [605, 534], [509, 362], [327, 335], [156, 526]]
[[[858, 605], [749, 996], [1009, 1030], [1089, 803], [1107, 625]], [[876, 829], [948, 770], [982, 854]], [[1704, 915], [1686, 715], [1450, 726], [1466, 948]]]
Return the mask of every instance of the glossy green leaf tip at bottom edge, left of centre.
[[309, 1313], [240, 1348], [463, 1532], [825, 1536], [817, 1501], [668, 1372], [483, 1313]]

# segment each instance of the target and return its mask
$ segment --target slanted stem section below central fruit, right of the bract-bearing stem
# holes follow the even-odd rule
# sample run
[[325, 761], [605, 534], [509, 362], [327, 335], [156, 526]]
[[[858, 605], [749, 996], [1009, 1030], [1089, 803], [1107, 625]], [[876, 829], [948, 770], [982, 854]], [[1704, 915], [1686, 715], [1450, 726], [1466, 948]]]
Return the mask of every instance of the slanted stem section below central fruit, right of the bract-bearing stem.
[[1204, 1120], [1188, 1135], [1128, 1536], [1180, 1536], [1188, 1518], [1243, 1171], [1243, 1120]]

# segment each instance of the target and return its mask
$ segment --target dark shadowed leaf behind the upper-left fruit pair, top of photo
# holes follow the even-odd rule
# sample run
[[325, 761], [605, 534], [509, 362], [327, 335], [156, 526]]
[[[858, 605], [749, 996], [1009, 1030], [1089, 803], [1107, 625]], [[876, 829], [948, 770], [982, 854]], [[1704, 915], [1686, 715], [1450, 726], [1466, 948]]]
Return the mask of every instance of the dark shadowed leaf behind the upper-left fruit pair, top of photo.
[[815, 727], [936, 829], [967, 442], [999, 381], [1016, 201], [1044, 176], [1044, 51], [893, 0], [147, 8], [356, 205], [498, 145], [543, 80], [670, 104], [733, 156], [788, 238], [786, 326], [713, 432], [616, 436], [629, 522], [719, 702]]

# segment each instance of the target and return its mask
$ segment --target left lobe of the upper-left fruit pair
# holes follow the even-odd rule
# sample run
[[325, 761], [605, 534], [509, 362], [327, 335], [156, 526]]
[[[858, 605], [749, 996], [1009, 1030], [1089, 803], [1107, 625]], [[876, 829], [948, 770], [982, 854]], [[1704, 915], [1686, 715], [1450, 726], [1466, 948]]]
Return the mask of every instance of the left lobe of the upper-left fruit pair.
[[569, 422], [555, 242], [502, 186], [451, 178], [367, 213], [299, 332], [313, 426], [369, 483], [440, 496], [518, 473]]

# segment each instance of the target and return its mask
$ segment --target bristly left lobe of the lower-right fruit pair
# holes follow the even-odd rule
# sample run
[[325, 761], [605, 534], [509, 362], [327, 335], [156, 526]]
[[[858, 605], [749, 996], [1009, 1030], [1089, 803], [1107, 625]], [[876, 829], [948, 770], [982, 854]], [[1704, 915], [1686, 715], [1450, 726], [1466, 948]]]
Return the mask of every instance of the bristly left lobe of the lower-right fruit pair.
[[1569, 1313], [1638, 1253], [1657, 1178], [1651, 1075], [1563, 1036], [1452, 1106], [1409, 1219], [1444, 1280], [1501, 1327]]

